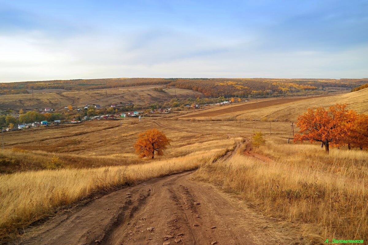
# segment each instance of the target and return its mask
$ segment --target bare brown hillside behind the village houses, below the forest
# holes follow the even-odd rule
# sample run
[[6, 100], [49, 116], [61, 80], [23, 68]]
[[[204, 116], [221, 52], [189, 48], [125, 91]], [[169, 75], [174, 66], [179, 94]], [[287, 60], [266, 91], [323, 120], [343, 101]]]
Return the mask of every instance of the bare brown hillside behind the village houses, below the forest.
[[[0, 96], [0, 109], [24, 109], [53, 108], [64, 109], [68, 105], [74, 108], [85, 106], [86, 104], [100, 104], [102, 106], [113, 103], [134, 103], [135, 105], [146, 105], [154, 102], [167, 102], [175, 96], [174, 88], [164, 88], [163, 92], [154, 91], [158, 86], [137, 86], [123, 87], [115, 89], [83, 90], [83, 91], [53, 91], [45, 90], [42, 93], [33, 94], [12, 94]], [[176, 89], [179, 99], [189, 97], [204, 97], [202, 93], [188, 89]]]

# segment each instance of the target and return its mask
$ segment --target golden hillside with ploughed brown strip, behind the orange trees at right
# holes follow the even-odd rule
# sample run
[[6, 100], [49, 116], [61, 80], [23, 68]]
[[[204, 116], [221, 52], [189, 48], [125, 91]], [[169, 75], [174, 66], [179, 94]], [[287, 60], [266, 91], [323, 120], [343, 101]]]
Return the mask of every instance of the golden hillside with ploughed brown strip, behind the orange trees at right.
[[[293, 102], [294, 101], [294, 102]], [[337, 94], [332, 96], [321, 96], [313, 98], [287, 98], [287, 99], [262, 99], [257, 102], [251, 100], [247, 103], [234, 104], [233, 113], [231, 105], [216, 107], [183, 115], [182, 118], [193, 118], [198, 120], [277, 120], [281, 122], [295, 122], [297, 116], [308, 108], [328, 108], [336, 103], [348, 104], [348, 109], [358, 113], [368, 113], [368, 89], [356, 92]], [[225, 109], [226, 108], [226, 109]], [[238, 109], [239, 108], [239, 109]]]

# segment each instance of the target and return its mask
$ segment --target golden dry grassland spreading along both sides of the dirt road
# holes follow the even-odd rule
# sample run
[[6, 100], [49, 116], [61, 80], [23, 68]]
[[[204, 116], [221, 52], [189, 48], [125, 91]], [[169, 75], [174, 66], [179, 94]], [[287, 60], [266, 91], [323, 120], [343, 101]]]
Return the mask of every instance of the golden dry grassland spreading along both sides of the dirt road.
[[[279, 120], [293, 118], [291, 106], [302, 113], [311, 105], [347, 102], [349, 108], [365, 112], [368, 90], [358, 92], [273, 110], [283, 108], [278, 111]], [[289, 114], [284, 111], [287, 108]], [[261, 119], [270, 117], [268, 111], [272, 108], [241, 115]], [[319, 244], [327, 238], [368, 239], [367, 151], [331, 148], [326, 155], [316, 144], [286, 144], [289, 122], [196, 118], [157, 122], [166, 127], [150, 118], [141, 123], [125, 120], [121, 128], [119, 120], [100, 120], [4, 134], [6, 149], [0, 155], [6, 161], [1, 162], [1, 171], [12, 173], [0, 176], [2, 235], [14, 234], [17, 228], [52, 216], [55, 209], [74, 205], [95, 192], [199, 167], [195, 181], [212, 183], [240, 198], [290, 241], [302, 237], [297, 244]], [[138, 134], [149, 128], [158, 128], [173, 139], [166, 154], [153, 161], [138, 159], [133, 149]], [[250, 138], [254, 131], [262, 131], [267, 140], [254, 151], [272, 161], [249, 158], [241, 150], [215, 161], [234, 149], [240, 140], [235, 136]]]

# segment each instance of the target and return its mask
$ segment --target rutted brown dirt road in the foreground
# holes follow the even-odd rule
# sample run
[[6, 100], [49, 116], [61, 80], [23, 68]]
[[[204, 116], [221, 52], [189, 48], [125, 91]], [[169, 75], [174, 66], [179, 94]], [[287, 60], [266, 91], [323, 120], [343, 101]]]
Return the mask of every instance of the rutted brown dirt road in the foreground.
[[20, 244], [256, 244], [247, 213], [192, 172], [118, 190], [47, 221]]

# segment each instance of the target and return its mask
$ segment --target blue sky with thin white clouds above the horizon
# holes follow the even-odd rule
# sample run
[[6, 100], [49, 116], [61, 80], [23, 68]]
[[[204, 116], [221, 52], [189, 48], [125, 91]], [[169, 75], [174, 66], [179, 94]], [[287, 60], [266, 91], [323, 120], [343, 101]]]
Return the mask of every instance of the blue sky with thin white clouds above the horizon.
[[0, 0], [0, 82], [368, 78], [368, 0]]

